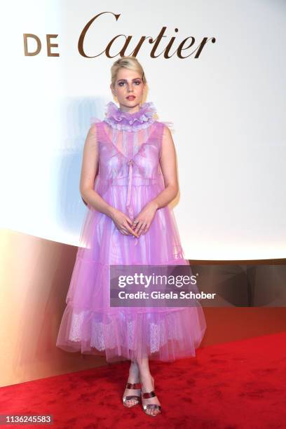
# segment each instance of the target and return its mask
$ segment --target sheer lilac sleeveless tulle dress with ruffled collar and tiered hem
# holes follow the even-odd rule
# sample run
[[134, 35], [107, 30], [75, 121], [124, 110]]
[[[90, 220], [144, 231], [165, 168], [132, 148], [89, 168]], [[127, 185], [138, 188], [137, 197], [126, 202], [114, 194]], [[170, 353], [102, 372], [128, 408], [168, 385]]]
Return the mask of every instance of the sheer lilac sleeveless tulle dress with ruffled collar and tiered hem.
[[[160, 167], [165, 123], [153, 102], [130, 114], [109, 102], [92, 119], [99, 151], [94, 190], [130, 219], [165, 189]], [[206, 329], [200, 304], [191, 307], [111, 307], [109, 266], [189, 265], [170, 207], [156, 210], [147, 233], [124, 235], [111, 217], [88, 205], [56, 346], [104, 355], [107, 362], [174, 361], [196, 355]]]

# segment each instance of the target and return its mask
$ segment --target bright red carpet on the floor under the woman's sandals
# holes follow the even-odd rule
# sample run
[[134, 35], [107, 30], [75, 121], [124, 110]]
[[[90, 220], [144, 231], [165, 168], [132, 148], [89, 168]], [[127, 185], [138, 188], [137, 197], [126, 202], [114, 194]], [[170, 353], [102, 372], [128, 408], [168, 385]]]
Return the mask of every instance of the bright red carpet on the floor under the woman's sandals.
[[155, 418], [121, 404], [128, 366], [1, 388], [1, 414], [53, 414], [53, 428], [286, 428], [285, 332], [200, 348], [173, 363], [151, 361], [163, 407]]

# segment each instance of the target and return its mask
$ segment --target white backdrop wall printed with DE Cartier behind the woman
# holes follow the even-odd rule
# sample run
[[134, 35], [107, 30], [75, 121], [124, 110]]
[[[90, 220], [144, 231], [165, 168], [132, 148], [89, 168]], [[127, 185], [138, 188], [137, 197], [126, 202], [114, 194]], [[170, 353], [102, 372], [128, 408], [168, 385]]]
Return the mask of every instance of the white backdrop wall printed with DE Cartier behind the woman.
[[[174, 211], [187, 259], [285, 257], [286, 2], [251, 1], [14, 1], [1, 15], [1, 226], [78, 244], [86, 206], [79, 193], [90, 117], [104, 117], [113, 100], [110, 67], [123, 37], [137, 54], [160, 121], [174, 123], [180, 198]], [[118, 20], [114, 15], [120, 15]], [[175, 28], [178, 29], [175, 32]], [[23, 34], [41, 39], [25, 56]], [[57, 34], [48, 56], [46, 34]], [[163, 52], [176, 37], [170, 58]], [[179, 43], [195, 37], [177, 57]], [[190, 55], [203, 37], [200, 56]], [[32, 39], [29, 50], [36, 48]]]

